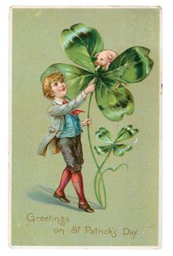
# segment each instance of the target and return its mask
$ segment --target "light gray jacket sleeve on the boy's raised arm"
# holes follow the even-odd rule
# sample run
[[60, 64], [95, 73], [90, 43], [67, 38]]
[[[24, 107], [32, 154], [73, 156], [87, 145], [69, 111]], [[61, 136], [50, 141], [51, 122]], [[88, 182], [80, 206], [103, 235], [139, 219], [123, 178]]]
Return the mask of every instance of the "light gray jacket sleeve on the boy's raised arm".
[[48, 107], [48, 114], [49, 115], [65, 115], [67, 113], [70, 113], [73, 110], [76, 110], [76, 108], [80, 107], [82, 104], [84, 104], [86, 97], [87, 97], [87, 94], [85, 94], [83, 91], [75, 99], [68, 102], [67, 104], [51, 105], [50, 107]]

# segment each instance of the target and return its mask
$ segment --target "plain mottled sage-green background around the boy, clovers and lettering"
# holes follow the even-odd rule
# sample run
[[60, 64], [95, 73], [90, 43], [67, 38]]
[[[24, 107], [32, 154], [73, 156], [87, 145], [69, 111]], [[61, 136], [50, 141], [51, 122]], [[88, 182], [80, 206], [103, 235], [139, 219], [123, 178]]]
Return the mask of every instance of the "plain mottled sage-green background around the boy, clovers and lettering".
[[[159, 184], [159, 73], [160, 10], [147, 9], [18, 9], [12, 10], [12, 246], [158, 246]], [[37, 148], [49, 125], [48, 99], [43, 98], [40, 75], [53, 63], [73, 64], [60, 44], [62, 29], [83, 23], [95, 27], [105, 49], [119, 54], [131, 46], [151, 50], [154, 67], [147, 79], [129, 86], [135, 99], [135, 112], [116, 123], [108, 121], [92, 102], [92, 142], [95, 131], [106, 127], [115, 136], [118, 129], [133, 124], [139, 129], [138, 143], [124, 157], [111, 154], [107, 166], [127, 163], [105, 177], [107, 208], [101, 210], [95, 199], [95, 164], [84, 128], [84, 189], [95, 213], [78, 210], [72, 184], [67, 186], [70, 205], [53, 197], [65, 162], [61, 154], [37, 155]], [[88, 101], [81, 107], [87, 111]], [[81, 119], [87, 113], [81, 114]], [[134, 140], [132, 140], [134, 141]], [[98, 156], [98, 160], [103, 157]], [[54, 221], [27, 221], [27, 214], [70, 218], [65, 226]], [[71, 227], [81, 227], [71, 234]], [[85, 234], [84, 227], [117, 230], [111, 235]], [[138, 230], [136, 237], [122, 235], [122, 229]], [[63, 228], [65, 235], [54, 233]], [[57, 230], [56, 230], [57, 231]]]

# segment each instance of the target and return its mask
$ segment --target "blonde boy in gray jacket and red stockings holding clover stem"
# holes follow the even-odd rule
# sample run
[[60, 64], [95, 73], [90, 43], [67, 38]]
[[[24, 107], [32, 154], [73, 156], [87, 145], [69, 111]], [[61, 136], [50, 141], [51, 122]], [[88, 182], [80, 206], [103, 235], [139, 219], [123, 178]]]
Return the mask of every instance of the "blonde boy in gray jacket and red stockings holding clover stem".
[[91, 119], [87, 118], [80, 122], [77, 110], [84, 104], [87, 94], [95, 91], [95, 84], [89, 85], [76, 99], [67, 98], [67, 86], [64, 77], [59, 72], [50, 74], [43, 81], [43, 95], [52, 99], [52, 104], [48, 107], [48, 115], [51, 119], [51, 127], [48, 127], [49, 134], [45, 135], [38, 149], [38, 154], [45, 156], [48, 145], [53, 154], [62, 152], [67, 167], [62, 173], [59, 187], [54, 192], [54, 197], [62, 202], [70, 203], [65, 196], [65, 187], [70, 182], [78, 195], [78, 207], [88, 213], [94, 210], [89, 206], [84, 196], [83, 177], [81, 174], [83, 152], [81, 146], [81, 127], [91, 124]]

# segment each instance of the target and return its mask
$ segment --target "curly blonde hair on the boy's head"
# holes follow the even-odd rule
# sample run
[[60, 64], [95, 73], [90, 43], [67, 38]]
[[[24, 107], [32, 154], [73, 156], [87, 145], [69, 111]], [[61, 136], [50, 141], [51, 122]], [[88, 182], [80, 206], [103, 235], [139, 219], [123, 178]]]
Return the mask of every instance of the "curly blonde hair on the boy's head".
[[45, 78], [43, 81], [43, 96], [48, 99], [54, 99], [54, 93], [51, 90], [51, 83], [52, 82], [64, 82], [65, 77], [56, 71], [54, 74], [50, 74], [48, 77]]

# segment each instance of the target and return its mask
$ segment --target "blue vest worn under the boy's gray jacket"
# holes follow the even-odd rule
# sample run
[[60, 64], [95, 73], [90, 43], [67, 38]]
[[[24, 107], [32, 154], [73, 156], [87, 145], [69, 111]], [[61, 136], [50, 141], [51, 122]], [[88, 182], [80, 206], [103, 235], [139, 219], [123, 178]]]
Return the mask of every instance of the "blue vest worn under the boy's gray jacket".
[[58, 138], [71, 138], [79, 135], [83, 130], [81, 129], [81, 122], [78, 115], [67, 113], [65, 116], [65, 126], [62, 132], [59, 132]]

